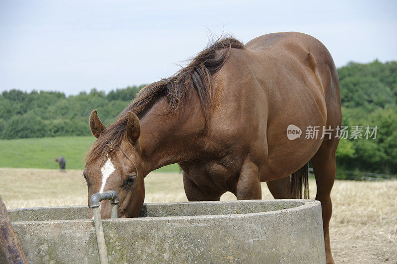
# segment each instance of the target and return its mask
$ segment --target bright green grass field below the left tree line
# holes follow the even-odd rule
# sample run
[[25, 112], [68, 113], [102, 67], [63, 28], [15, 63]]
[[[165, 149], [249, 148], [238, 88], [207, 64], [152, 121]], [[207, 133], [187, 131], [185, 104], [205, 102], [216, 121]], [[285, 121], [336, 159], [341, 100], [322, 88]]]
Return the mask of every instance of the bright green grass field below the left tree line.
[[[94, 136], [59, 136], [0, 140], [1, 168], [57, 169], [55, 159], [64, 156], [67, 169], [84, 168], [84, 155], [95, 141]], [[161, 172], [177, 172], [172, 164], [160, 168]]]

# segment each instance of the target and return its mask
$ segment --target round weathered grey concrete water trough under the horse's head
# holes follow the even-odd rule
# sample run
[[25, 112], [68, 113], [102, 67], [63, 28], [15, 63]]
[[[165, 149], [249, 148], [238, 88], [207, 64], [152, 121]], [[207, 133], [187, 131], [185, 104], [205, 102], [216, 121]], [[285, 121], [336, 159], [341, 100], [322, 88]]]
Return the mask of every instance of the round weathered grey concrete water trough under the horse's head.
[[[99, 263], [88, 212], [9, 210], [30, 263]], [[315, 200], [148, 203], [137, 218], [102, 223], [110, 263], [325, 263]]]

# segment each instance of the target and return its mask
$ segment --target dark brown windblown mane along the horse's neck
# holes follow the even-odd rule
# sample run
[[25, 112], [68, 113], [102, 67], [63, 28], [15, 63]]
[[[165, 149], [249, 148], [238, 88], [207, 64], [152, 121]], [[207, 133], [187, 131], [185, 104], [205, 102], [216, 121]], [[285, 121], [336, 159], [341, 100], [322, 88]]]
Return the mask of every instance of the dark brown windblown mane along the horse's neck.
[[119, 114], [116, 121], [91, 145], [86, 155], [86, 162], [105, 156], [107, 153], [111, 154], [120, 146], [125, 136], [129, 111], [141, 119], [161, 98], [168, 102], [164, 114], [173, 114], [196, 93], [204, 118], [208, 120], [210, 110], [213, 108], [214, 94], [211, 76], [224, 65], [232, 48], [244, 49], [244, 45], [232, 37], [217, 39], [201, 51], [188, 66], [171, 77], [144, 87], [132, 103]]

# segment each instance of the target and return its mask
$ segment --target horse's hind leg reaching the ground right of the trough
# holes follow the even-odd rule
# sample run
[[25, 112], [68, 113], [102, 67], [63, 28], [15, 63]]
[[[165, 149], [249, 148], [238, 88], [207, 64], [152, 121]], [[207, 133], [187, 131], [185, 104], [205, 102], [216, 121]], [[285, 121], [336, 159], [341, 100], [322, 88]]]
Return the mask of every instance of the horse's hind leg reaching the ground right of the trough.
[[317, 185], [316, 200], [321, 202], [322, 207], [327, 263], [334, 263], [331, 254], [329, 226], [332, 214], [331, 189], [336, 174], [335, 152], [338, 142], [338, 138], [323, 141], [319, 150], [312, 158]]

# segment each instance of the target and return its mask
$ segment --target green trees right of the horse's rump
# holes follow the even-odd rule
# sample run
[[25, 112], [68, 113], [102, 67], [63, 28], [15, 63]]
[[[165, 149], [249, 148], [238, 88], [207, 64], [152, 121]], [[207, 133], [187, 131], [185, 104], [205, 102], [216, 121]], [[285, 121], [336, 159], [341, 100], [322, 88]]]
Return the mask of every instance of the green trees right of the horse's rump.
[[397, 174], [397, 62], [338, 69], [342, 125], [378, 127], [375, 139], [340, 139], [339, 168]]

